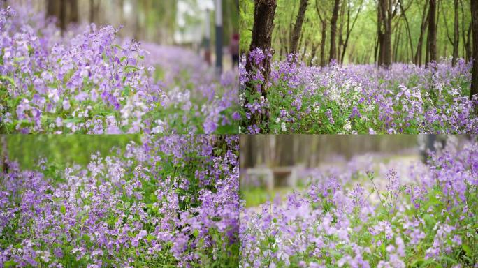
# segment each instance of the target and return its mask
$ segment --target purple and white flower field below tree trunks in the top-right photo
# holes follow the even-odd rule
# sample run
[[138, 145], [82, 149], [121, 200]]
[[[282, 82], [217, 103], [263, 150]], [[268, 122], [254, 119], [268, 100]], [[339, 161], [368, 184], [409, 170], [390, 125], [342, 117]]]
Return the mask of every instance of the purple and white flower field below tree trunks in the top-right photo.
[[478, 133], [478, 100], [468, 98], [471, 65], [463, 59], [454, 67], [444, 60], [386, 70], [309, 67], [289, 57], [273, 62], [264, 94], [256, 70], [266, 57], [259, 49], [249, 53], [257, 66], [252, 73], [245, 56], [240, 63], [241, 133]]

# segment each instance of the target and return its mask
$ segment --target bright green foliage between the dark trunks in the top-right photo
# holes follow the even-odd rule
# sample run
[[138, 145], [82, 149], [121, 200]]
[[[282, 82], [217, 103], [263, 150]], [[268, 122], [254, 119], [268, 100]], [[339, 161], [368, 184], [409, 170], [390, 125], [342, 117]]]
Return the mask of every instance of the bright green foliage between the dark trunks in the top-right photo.
[[[288, 47], [290, 43], [290, 34], [296, 22], [298, 6], [300, 0], [277, 0], [277, 8], [275, 10], [274, 29], [273, 29], [273, 49], [275, 50], [275, 59], [284, 59], [289, 53]], [[309, 0], [305, 13], [305, 20], [299, 40], [300, 59], [307, 64], [319, 64], [321, 40], [321, 20], [317, 14], [319, 9], [321, 18], [326, 20], [326, 40], [324, 47], [325, 59], [328, 61], [328, 52], [330, 50], [330, 20], [333, 10], [333, 2], [331, 0]], [[351, 25], [356, 14], [358, 13], [361, 0], [350, 0], [350, 20]], [[421, 17], [423, 7], [426, 1], [403, 0], [405, 15], [410, 28], [410, 38], [407, 34], [405, 18], [400, 11], [393, 17], [393, 33], [392, 33], [392, 50], [393, 61], [410, 62], [413, 61], [414, 54], [417, 52], [417, 44], [421, 31]], [[340, 1], [339, 17], [337, 22], [338, 40], [345, 41], [347, 35], [347, 0]], [[437, 15], [437, 56], [449, 57], [453, 47], [451, 39], [454, 34], [454, 1], [438, 1]], [[400, 8], [400, 7], [398, 7]], [[459, 22], [459, 43], [458, 57], [465, 57], [465, 44], [463, 42], [463, 32], [466, 36], [468, 25], [471, 22], [470, 1], [460, 1], [458, 6], [458, 22]], [[375, 62], [375, 45], [377, 42], [377, 1], [363, 1], [363, 7], [358, 13], [354, 29], [349, 36], [347, 45], [347, 53], [345, 54], [345, 63], [368, 64]], [[249, 44], [252, 37], [252, 25], [254, 24], [254, 0], [240, 0], [240, 50], [245, 52], [249, 50]], [[342, 38], [340, 38], [342, 36]], [[426, 36], [426, 33], [425, 33]], [[396, 40], [399, 43], [396, 45]], [[425, 38], [426, 39], [426, 38]], [[424, 39], [424, 40], [425, 40]], [[425, 41], [423, 40], [423, 44]], [[411, 49], [412, 48], [412, 49]], [[315, 59], [312, 58], [312, 51], [316, 50]], [[395, 52], [396, 50], [396, 52]], [[426, 51], [426, 45], [422, 46], [423, 57]], [[413, 52], [413, 54], [412, 54]], [[422, 59], [423, 62], [424, 59]]]

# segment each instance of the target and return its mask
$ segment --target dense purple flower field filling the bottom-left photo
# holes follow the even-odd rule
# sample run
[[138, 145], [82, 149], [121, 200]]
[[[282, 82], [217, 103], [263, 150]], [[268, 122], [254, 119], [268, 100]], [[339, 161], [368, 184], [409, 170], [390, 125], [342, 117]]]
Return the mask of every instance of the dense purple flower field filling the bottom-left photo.
[[237, 267], [238, 136], [0, 171], [0, 267]]

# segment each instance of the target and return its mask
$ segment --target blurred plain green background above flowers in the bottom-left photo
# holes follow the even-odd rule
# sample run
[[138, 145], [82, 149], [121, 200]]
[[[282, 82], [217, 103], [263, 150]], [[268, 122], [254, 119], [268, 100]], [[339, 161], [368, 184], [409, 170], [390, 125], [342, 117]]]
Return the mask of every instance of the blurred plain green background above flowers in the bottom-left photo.
[[[101, 153], [118, 155], [129, 142], [140, 144], [140, 135], [0, 135], [0, 164], [5, 160], [17, 161], [20, 168], [31, 170], [43, 159], [64, 168], [73, 163], [87, 165], [90, 156]], [[115, 150], [112, 150], [115, 148]]]

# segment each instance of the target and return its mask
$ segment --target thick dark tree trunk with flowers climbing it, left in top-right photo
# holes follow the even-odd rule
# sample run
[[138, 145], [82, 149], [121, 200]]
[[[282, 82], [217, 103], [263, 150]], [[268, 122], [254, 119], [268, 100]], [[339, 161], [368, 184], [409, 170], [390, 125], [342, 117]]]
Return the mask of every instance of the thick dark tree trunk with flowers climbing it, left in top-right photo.
[[[252, 40], [251, 45], [249, 47], [249, 52], [254, 50], [255, 48], [260, 48], [263, 50], [265, 54], [269, 52], [272, 54], [273, 51], [270, 47], [272, 43], [272, 33], [274, 28], [274, 15], [275, 15], [275, 8], [277, 6], [276, 0], [255, 0], [254, 2], [254, 25], [252, 27]], [[270, 57], [266, 57], [263, 59], [263, 68], [259, 69], [263, 75], [263, 84], [260, 90], [261, 96], [267, 98], [267, 86], [270, 80]], [[247, 73], [252, 72], [255, 63], [249, 60], [247, 57], [246, 63], [246, 71]], [[252, 94], [256, 92], [256, 86], [252, 82], [248, 82], [246, 84], [246, 89], [251, 91]], [[247, 103], [247, 98], [246, 98]], [[268, 111], [265, 114], [268, 117]], [[260, 114], [252, 114], [250, 124], [259, 124], [261, 123], [262, 116]], [[268, 118], [265, 118], [268, 121]], [[264, 129], [263, 131], [268, 131], [268, 129]]]

